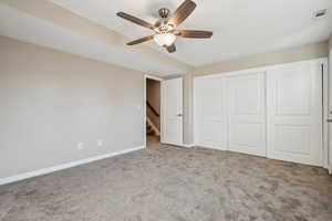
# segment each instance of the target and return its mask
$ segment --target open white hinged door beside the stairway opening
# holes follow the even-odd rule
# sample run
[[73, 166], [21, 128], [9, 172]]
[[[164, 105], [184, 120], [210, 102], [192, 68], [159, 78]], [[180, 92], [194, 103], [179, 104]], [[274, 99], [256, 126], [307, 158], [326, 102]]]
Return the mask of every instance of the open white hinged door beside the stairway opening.
[[183, 145], [183, 78], [163, 82], [162, 143]]

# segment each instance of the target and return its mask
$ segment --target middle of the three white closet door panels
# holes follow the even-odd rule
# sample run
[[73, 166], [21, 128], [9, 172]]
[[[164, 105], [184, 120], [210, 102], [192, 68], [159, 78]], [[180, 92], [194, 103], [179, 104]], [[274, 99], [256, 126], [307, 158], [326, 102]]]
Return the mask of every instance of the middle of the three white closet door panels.
[[229, 143], [231, 151], [266, 156], [264, 73], [228, 77]]

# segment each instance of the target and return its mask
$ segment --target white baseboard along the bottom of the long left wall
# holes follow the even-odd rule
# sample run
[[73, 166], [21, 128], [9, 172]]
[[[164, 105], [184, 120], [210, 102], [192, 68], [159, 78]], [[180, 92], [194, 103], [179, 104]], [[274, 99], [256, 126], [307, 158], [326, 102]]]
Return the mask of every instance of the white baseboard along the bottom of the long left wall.
[[105, 155], [90, 157], [90, 158], [86, 158], [86, 159], [80, 159], [80, 160], [58, 165], [58, 166], [54, 166], [54, 167], [49, 167], [49, 168], [44, 168], [44, 169], [38, 169], [38, 170], [30, 171], [30, 172], [15, 175], [15, 176], [12, 176], [12, 177], [0, 178], [0, 186], [1, 185], [7, 185], [7, 183], [10, 183], [10, 182], [20, 181], [20, 180], [28, 179], [28, 178], [32, 178], [32, 177], [38, 177], [38, 176], [41, 176], [41, 175], [51, 173], [51, 172], [63, 170], [63, 169], [68, 169], [68, 168], [75, 167], [75, 166], [79, 166], [79, 165], [84, 165], [84, 164], [93, 162], [93, 161], [96, 161], [96, 160], [114, 157], [114, 156], [117, 156], [117, 155], [127, 154], [127, 152], [139, 150], [139, 149], [145, 149], [145, 146], [139, 146], [139, 147], [124, 149], [124, 150], [120, 150], [120, 151], [115, 151], [115, 152], [110, 152], [110, 154], [105, 154]]

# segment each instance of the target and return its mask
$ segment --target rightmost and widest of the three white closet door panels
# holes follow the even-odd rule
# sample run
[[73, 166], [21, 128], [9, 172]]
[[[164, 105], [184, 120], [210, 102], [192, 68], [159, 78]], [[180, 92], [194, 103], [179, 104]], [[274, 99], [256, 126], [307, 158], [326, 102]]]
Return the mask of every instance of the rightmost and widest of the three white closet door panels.
[[272, 67], [267, 80], [268, 157], [321, 166], [321, 63]]

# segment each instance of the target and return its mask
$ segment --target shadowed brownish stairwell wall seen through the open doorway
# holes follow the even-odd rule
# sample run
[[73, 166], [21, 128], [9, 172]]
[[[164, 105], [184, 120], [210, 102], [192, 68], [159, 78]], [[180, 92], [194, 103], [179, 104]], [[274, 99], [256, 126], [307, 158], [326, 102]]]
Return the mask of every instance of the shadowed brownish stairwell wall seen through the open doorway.
[[[146, 101], [160, 115], [160, 82], [146, 80]], [[160, 130], [160, 117], [156, 116], [148, 107], [146, 108], [146, 114]]]

